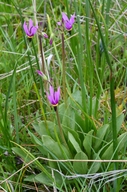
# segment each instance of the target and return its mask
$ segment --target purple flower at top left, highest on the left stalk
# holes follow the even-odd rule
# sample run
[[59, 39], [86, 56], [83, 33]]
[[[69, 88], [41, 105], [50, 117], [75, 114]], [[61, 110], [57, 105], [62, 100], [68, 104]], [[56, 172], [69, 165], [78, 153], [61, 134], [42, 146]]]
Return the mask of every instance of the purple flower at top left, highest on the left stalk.
[[26, 22], [24, 22], [23, 29], [24, 29], [26, 35], [29, 38], [32, 38], [38, 30], [38, 25], [34, 26], [32, 19], [30, 19], [28, 24]]

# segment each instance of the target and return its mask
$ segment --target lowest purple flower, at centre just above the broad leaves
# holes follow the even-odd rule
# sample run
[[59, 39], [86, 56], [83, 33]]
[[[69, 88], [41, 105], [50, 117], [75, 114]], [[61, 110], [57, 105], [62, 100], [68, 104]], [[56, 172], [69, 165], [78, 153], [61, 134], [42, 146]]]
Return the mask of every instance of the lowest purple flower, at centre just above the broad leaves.
[[57, 106], [60, 100], [60, 87], [58, 87], [57, 91], [54, 91], [54, 87], [50, 85], [47, 98], [52, 106]]

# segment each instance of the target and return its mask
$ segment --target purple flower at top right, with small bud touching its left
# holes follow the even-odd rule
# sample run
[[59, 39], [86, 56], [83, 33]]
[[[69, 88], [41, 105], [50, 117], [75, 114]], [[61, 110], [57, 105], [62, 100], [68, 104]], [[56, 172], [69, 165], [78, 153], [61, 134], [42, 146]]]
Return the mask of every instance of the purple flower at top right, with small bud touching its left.
[[62, 13], [62, 22], [61, 21], [57, 22], [59, 26], [64, 24], [64, 27], [67, 29], [67, 31], [70, 31], [72, 29], [74, 23], [75, 23], [75, 13], [69, 19], [64, 12]]

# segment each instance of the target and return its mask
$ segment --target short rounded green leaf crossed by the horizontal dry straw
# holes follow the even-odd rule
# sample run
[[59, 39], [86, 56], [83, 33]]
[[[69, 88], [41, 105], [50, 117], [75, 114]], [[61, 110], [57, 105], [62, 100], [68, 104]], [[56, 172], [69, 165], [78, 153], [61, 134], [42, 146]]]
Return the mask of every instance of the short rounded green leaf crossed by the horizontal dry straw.
[[[77, 153], [74, 157], [74, 160], [88, 160], [88, 157], [87, 155], [80, 151], [79, 153]], [[87, 170], [88, 170], [88, 162], [74, 162], [73, 163], [73, 167], [74, 167], [74, 170], [76, 173], [79, 173], [79, 174], [85, 174], [87, 173]]]

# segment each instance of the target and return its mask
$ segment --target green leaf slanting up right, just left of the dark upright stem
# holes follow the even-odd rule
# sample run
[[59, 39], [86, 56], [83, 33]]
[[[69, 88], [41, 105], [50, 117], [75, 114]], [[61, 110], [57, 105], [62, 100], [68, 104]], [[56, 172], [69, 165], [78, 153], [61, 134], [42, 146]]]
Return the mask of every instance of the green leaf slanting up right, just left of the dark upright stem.
[[98, 151], [100, 145], [103, 143], [103, 139], [104, 139], [104, 136], [106, 135], [108, 128], [109, 128], [109, 125], [105, 124], [104, 126], [100, 127], [97, 130], [97, 134], [95, 136], [96, 138], [94, 139], [94, 145], [93, 145], [93, 148], [95, 149], [95, 151]]

